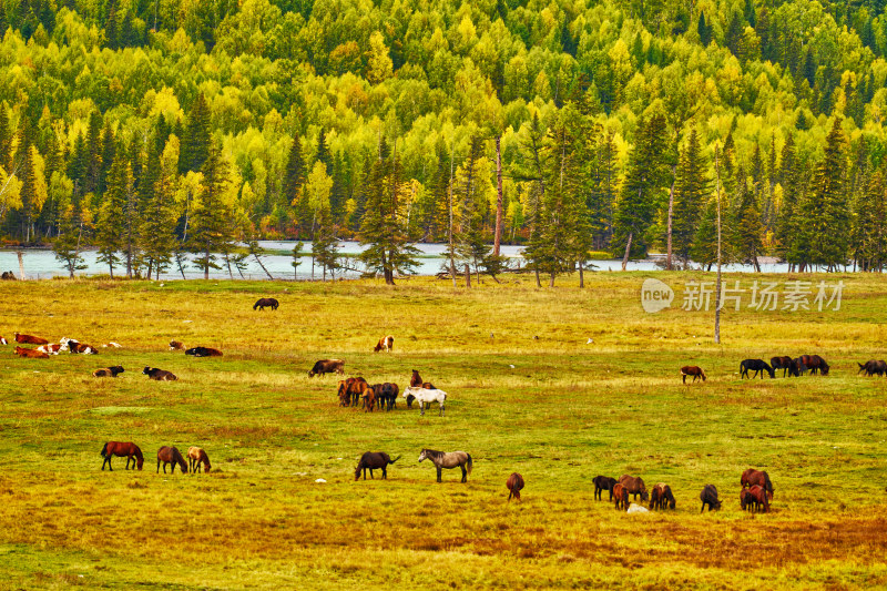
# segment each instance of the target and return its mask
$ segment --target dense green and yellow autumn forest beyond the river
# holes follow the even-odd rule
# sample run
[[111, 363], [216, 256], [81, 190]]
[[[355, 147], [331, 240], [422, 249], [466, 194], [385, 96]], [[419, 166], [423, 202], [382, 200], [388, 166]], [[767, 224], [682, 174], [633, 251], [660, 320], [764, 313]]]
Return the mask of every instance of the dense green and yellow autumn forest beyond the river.
[[880, 271], [880, 0], [7, 0], [0, 232], [152, 274], [235, 241]]

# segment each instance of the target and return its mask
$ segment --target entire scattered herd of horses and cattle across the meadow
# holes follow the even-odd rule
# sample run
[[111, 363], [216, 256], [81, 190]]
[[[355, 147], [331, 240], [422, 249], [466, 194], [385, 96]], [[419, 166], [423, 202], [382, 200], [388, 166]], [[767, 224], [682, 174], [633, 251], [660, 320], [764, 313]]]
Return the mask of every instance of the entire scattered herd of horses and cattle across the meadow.
[[[275, 310], [278, 307], [278, 302], [274, 298], [262, 298], [256, 302], [253, 309], [264, 309], [265, 307], [271, 307]], [[16, 343], [19, 344], [35, 345], [35, 347], [16, 347], [14, 353], [20, 357], [27, 358], [49, 358], [51, 355], [59, 355], [60, 353], [80, 355], [95, 355], [99, 353], [95, 347], [68, 337], [61, 338], [59, 343], [52, 344], [48, 339], [41, 337], [16, 333], [14, 339]], [[0, 344], [8, 344], [7, 339], [2, 336], [0, 336]], [[102, 347], [120, 348], [121, 345], [108, 343], [102, 345]], [[170, 350], [184, 350], [185, 355], [194, 357], [220, 357], [223, 355], [221, 350], [211, 347], [197, 346], [185, 348], [184, 344], [179, 340], [170, 342]], [[391, 335], [381, 337], [374, 347], [374, 351], [376, 353], [390, 353], [391, 350], [394, 350], [394, 336]], [[873, 359], [865, 364], [857, 365], [859, 366], [857, 375], [860, 373], [865, 373], [866, 376], [887, 375], [887, 363], [884, 360]], [[802, 355], [796, 358], [778, 356], [772, 357], [769, 364], [763, 359], [743, 360], [740, 364], [740, 378], [753, 379], [758, 375], [763, 378], [765, 373], [771, 378], [775, 378], [777, 369], [783, 370], [783, 377], [801, 377], [805, 373], [827, 376], [829, 373], [828, 364], [818, 355]], [[116, 378], [123, 373], [123, 367], [116, 365], [95, 369], [92, 375], [96, 378]], [[150, 379], [159, 381], [179, 379], [171, 371], [154, 367], [145, 367], [142, 374], [149, 376]], [[315, 363], [308, 371], [308, 377], [324, 376], [326, 374], [344, 375], [345, 361], [343, 359], [320, 359]], [[682, 367], [681, 377], [684, 384], [686, 384], [687, 377], [692, 377], [693, 381], [697, 379], [705, 381], [707, 379], [705, 371], [699, 366]], [[412, 408], [412, 403], [418, 401], [421, 415], [425, 415], [426, 405], [438, 403], [440, 416], [443, 416], [447, 393], [435, 387], [431, 383], [425, 381], [418, 370], [414, 369], [409, 386], [405, 387], [402, 390], [394, 383], [385, 381], [370, 385], [364, 377], [356, 376], [338, 381], [337, 397], [340, 406], [363, 407], [366, 412], [371, 412], [375, 407], [378, 407], [380, 410], [385, 409], [386, 412], [391, 411], [397, 408], [397, 399], [399, 397], [404, 398], [407, 408]], [[111, 458], [114, 456], [126, 457], [126, 469], [130, 468], [131, 462], [133, 469], [142, 469], [142, 451], [139, 446], [133, 442], [109, 441], [102, 448], [101, 456], [103, 458], [102, 470], [104, 470], [105, 466], [108, 466], [109, 470], [112, 469]], [[211, 470], [210, 458], [202, 448], [188, 448], [187, 459], [188, 462], [186, 463], [184, 457], [175, 447], [163, 446], [157, 450], [157, 472], [160, 472], [161, 465], [163, 466], [164, 473], [166, 473], [167, 465], [171, 466], [172, 472], [175, 471], [176, 466], [181, 468], [181, 472], [183, 473], [186, 473], [188, 470], [192, 473], [201, 470], [208, 472]], [[355, 469], [355, 479], [359, 479], [363, 473], [366, 480], [367, 470], [369, 470], [370, 478], [374, 478], [373, 471], [377, 469], [381, 470], [381, 477], [385, 479], [388, 476], [388, 466], [395, 463], [398, 459], [400, 459], [400, 456], [391, 459], [386, 452], [367, 451], [361, 456]], [[419, 456], [419, 461], [425, 459], [430, 459], [435, 463], [438, 481], [440, 481], [441, 468], [460, 467], [462, 470], [462, 482], [467, 481], [467, 476], [471, 471], [471, 456], [465, 451], [443, 452], [424, 449]], [[603, 491], [608, 491], [610, 495], [609, 500], [614, 502], [618, 510], [646, 512], [649, 510], [675, 509], [676, 507], [674, 493], [671, 487], [664, 482], [656, 483], [650, 491], [648, 491], [642, 478], [632, 477], [630, 475], [623, 475], [619, 479], [598, 476], [592, 482], [594, 485], [595, 500], [603, 500]], [[767, 472], [750, 468], [742, 473], [740, 483], [742, 487], [740, 490], [740, 506], [743, 510], [769, 511], [769, 501], [773, 499], [773, 483]], [[513, 497], [520, 501], [520, 491], [523, 489], [523, 477], [518, 472], [511, 473], [506, 482], [506, 487], [509, 490], [508, 500], [510, 501]], [[633, 503], [630, 501], [630, 497], [632, 497], [631, 501], [634, 501]], [[643, 502], [649, 501], [649, 509], [636, 503], [638, 497], [640, 497]], [[700, 501], [702, 501], [701, 512], [704, 511], [706, 507], [710, 511], [713, 509], [717, 510], [722, 505], [714, 485], [705, 485], [703, 487], [700, 492]]]

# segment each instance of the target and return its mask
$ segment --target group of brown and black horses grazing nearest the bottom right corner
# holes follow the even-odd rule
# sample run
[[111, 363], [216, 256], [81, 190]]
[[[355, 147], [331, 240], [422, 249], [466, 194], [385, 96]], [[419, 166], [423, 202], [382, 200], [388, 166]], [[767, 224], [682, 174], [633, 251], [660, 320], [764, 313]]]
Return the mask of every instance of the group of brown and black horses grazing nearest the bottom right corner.
[[[597, 476], [592, 482], [594, 483], [594, 499], [603, 500], [603, 491], [606, 490], [610, 492], [610, 502], [615, 503], [616, 510], [633, 513], [655, 509], [675, 509], [677, 506], [671, 487], [665, 482], [657, 482], [650, 492], [648, 492], [642, 478], [629, 475], [622, 475], [619, 480], [606, 476]], [[769, 501], [773, 500], [773, 482], [767, 472], [748, 468], [740, 477], [740, 485], [742, 486], [740, 507], [743, 511], [769, 512]], [[635, 503], [629, 501], [630, 495]], [[650, 509], [636, 505], [639, 496], [641, 501], [650, 501]], [[700, 500], [702, 501], [700, 512], [703, 512], [706, 507], [710, 511], [721, 509], [722, 501], [717, 497], [717, 488], [714, 485], [705, 485], [702, 488]]]

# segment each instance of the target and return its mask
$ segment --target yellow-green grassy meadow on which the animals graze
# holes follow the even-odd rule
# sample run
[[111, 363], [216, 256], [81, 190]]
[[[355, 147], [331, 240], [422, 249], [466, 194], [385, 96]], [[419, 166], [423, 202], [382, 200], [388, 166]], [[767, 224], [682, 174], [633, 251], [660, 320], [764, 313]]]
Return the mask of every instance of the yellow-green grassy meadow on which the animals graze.
[[[642, 310], [648, 275], [587, 275], [585, 289], [574, 277], [554, 289], [3, 282], [10, 342], [124, 348], [20, 359], [0, 347], [0, 588], [887, 587], [887, 379], [856, 366], [887, 357], [887, 282], [801, 276], [843, 281], [840, 310], [725, 310], [715, 345], [713, 312]], [[279, 309], [253, 312], [262, 296]], [[374, 354], [385, 334], [394, 353]], [[173, 338], [225, 355], [185, 357]], [[740, 379], [744, 358], [814, 353], [829, 376]], [[446, 416], [340, 408], [338, 378], [307, 376], [336, 357], [401, 388], [418, 369], [449, 393]], [[126, 371], [91, 376], [109, 365]], [[151, 381], [146, 365], [180, 380]], [[708, 380], [682, 385], [682, 365]], [[108, 440], [136, 442], [144, 470], [114, 458], [101, 471]], [[203, 447], [213, 471], [155, 473], [163, 445]], [[471, 454], [468, 483], [458, 469], [436, 483], [424, 447]], [[388, 480], [354, 480], [369, 450], [402, 456]], [[740, 510], [748, 467], [769, 472], [772, 513]], [[512, 471], [520, 505], [506, 502]], [[599, 473], [667, 482], [677, 509], [616, 511], [593, 499]], [[705, 483], [720, 512], [700, 514]]]

